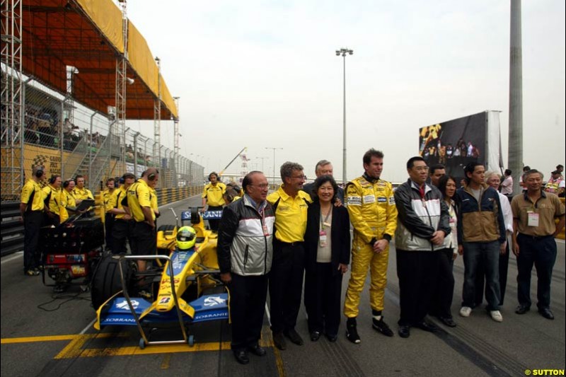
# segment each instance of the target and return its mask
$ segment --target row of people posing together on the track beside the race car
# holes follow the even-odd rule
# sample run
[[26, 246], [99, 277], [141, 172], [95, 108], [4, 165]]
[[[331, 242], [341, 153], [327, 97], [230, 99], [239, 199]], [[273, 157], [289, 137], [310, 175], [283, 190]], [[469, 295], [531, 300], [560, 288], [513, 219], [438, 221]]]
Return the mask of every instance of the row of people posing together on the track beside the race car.
[[[420, 156], [408, 160], [409, 178], [396, 190], [381, 179], [381, 151], [367, 151], [363, 166], [364, 174], [342, 190], [333, 179], [329, 161], [317, 163], [317, 178], [308, 185], [304, 185], [304, 168], [287, 162], [280, 169], [282, 185], [269, 195], [265, 175], [253, 171], [243, 179], [241, 199], [224, 207], [217, 250], [221, 280], [230, 292], [231, 347], [239, 363], [248, 364], [249, 352], [265, 355], [259, 340], [267, 291], [275, 347], [286, 349], [287, 340], [304, 344], [296, 331], [303, 284], [311, 341], [325, 335], [335, 342], [342, 311], [347, 339], [361, 342], [357, 316], [368, 272], [371, 325], [392, 337], [383, 309], [393, 238], [400, 288], [400, 337], [409, 337], [412, 327], [437, 331], [425, 319], [429, 314], [447, 326], [456, 326], [451, 303], [452, 267], [457, 255], [463, 255], [465, 266], [460, 315], [469, 316], [483, 301], [485, 282], [487, 313], [501, 322], [508, 238], [519, 269], [516, 313], [524, 314], [531, 307], [530, 277], [536, 265], [538, 311], [553, 319], [553, 238], [565, 224], [565, 207], [556, 195], [542, 190], [540, 172], [529, 170], [524, 176], [526, 192], [509, 203], [496, 189], [499, 175], [485, 173], [480, 163], [466, 166], [467, 185], [458, 190], [454, 178], [437, 170], [429, 173]], [[435, 174], [438, 179], [429, 184], [427, 180]], [[202, 197], [206, 202], [207, 187]], [[342, 308], [342, 277], [349, 265], [350, 281]]]

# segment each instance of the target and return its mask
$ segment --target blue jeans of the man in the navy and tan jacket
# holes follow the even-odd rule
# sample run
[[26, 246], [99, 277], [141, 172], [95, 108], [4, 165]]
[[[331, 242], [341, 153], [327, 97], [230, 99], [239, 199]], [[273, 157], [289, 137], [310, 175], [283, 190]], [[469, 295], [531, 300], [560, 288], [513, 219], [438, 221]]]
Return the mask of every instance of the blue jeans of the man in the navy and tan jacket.
[[475, 275], [478, 266], [485, 272], [485, 299], [488, 311], [498, 311], [499, 289], [499, 241], [464, 242], [464, 286], [462, 306], [475, 306]]

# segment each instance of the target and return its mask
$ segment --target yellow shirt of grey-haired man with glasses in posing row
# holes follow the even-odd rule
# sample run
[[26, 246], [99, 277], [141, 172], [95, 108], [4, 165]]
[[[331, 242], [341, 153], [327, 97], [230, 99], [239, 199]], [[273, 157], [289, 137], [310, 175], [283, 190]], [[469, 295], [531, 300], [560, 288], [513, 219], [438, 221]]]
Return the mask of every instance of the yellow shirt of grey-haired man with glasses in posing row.
[[276, 192], [267, 196], [267, 202], [275, 209], [275, 238], [282, 242], [302, 242], [306, 231], [306, 210], [312, 202], [311, 195], [304, 191], [297, 192], [293, 199], [284, 192], [283, 185]]

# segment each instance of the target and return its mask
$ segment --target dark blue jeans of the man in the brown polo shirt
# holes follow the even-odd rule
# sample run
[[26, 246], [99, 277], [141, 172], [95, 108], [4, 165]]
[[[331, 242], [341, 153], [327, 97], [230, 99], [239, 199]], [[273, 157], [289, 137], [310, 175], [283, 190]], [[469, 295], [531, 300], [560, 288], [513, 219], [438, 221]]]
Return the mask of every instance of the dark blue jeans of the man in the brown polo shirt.
[[550, 306], [550, 281], [556, 262], [556, 242], [553, 236], [531, 237], [517, 235], [519, 255], [517, 255], [517, 298], [522, 306], [531, 306], [531, 271], [536, 268], [538, 286], [536, 299], [539, 309]]

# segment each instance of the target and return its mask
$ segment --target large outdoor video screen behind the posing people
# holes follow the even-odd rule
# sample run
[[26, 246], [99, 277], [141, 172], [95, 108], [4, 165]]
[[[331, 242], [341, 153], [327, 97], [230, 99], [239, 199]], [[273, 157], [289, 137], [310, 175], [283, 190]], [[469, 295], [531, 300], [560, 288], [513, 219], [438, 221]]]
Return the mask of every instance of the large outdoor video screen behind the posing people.
[[441, 163], [458, 186], [463, 168], [472, 161], [485, 162], [486, 113], [468, 115], [419, 129], [419, 154], [428, 166]]

